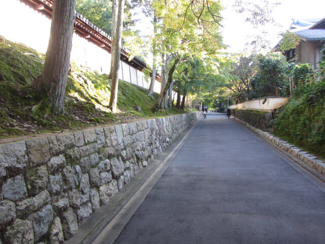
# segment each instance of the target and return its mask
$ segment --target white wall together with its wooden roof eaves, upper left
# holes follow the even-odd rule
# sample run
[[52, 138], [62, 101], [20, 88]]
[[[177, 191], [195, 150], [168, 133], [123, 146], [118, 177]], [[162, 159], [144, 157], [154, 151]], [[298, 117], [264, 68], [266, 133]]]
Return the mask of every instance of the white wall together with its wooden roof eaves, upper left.
[[[46, 53], [50, 36], [52, 1], [40, 0], [39, 2], [44, 4], [43, 8], [40, 5], [34, 7], [31, 2], [35, 1], [0, 1], [0, 21], [6, 23], [0, 25], [0, 35], [8, 40], [23, 43], [40, 53]], [[111, 67], [110, 37], [81, 15], [77, 16], [76, 23], [75, 28], [81, 23], [83, 28], [88, 28], [87, 31], [91, 35], [83, 34], [80, 29], [74, 33], [71, 61], [76, 65], [108, 74]], [[96, 38], [104, 41], [104, 44], [101, 45]], [[142, 72], [144, 63], [137, 58], [128, 60], [126, 54], [125, 50], [122, 50], [119, 78], [148, 88], [150, 78]], [[139, 67], [137, 65], [139, 63], [142, 66]], [[160, 82], [155, 82], [154, 92], [160, 92]]]

